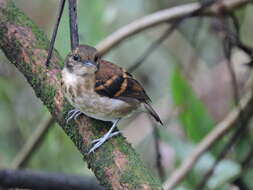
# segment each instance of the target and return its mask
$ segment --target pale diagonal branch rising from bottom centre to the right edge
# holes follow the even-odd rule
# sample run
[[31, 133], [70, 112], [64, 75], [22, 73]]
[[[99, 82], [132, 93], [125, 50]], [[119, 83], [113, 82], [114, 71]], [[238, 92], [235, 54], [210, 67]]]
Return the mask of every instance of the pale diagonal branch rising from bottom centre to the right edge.
[[[251, 92], [246, 93], [240, 102], [242, 110], [244, 110], [244, 120], [251, 118], [253, 114], [253, 95]], [[164, 189], [173, 189], [191, 170], [199, 158], [220, 138], [222, 138], [229, 130], [237, 125], [240, 117], [240, 110], [235, 108], [228, 116], [220, 122], [193, 150], [181, 164], [181, 166], [173, 172], [169, 179], [164, 183]]]

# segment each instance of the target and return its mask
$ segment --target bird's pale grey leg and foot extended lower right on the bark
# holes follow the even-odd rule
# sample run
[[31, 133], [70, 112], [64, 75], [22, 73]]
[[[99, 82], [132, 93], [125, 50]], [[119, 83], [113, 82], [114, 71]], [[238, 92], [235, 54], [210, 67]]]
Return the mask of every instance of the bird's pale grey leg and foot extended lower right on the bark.
[[120, 119], [116, 120], [112, 127], [110, 128], [110, 130], [101, 138], [99, 139], [95, 139], [92, 141], [92, 143], [96, 143], [94, 146], [92, 146], [92, 148], [90, 149], [90, 151], [88, 152], [88, 154], [94, 152], [97, 148], [99, 148], [102, 144], [104, 144], [105, 141], [107, 141], [108, 139], [110, 139], [111, 137], [118, 135], [120, 132], [116, 131], [113, 132], [113, 130], [115, 129], [115, 127], [117, 126], [117, 123], [119, 122]]

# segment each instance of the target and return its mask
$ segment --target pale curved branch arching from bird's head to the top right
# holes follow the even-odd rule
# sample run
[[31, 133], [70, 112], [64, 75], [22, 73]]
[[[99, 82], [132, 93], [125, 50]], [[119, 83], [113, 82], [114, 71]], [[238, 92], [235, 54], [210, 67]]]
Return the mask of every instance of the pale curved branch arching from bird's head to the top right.
[[[207, 7], [205, 11], [201, 12], [201, 15], [217, 15], [224, 9], [233, 10], [250, 2], [251, 0], [220, 0], [215, 2], [212, 6]], [[100, 52], [100, 55], [104, 55], [113, 47], [117, 46], [121, 41], [134, 34], [153, 26], [190, 15], [198, 11], [199, 8], [201, 8], [201, 3], [189, 3], [155, 12], [118, 29], [100, 42], [96, 48]]]

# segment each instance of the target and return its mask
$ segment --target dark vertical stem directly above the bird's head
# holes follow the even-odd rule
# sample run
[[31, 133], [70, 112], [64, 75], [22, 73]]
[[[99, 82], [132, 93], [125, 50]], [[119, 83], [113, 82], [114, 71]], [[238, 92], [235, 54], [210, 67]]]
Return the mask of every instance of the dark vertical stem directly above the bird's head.
[[77, 6], [76, 0], [68, 0], [68, 1], [69, 1], [69, 27], [70, 27], [71, 50], [73, 50], [79, 44], [79, 35], [77, 27]]

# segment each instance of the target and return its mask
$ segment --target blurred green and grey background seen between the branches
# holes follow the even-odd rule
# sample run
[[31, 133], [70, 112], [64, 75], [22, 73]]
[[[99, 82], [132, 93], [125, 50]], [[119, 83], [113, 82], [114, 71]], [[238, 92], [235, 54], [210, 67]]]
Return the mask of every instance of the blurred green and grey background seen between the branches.
[[[80, 41], [95, 46], [107, 35], [137, 18], [160, 9], [189, 3], [186, 0], [82, 0], [78, 1]], [[16, 0], [16, 5], [38, 24], [50, 38], [58, 0]], [[70, 50], [67, 6], [60, 25], [56, 49], [62, 57]], [[253, 42], [253, 11], [247, 6], [236, 14], [241, 38]], [[166, 30], [159, 25], [125, 40], [105, 58], [128, 68], [152, 42]], [[219, 19], [192, 18], [180, 27], [134, 71], [152, 99], [153, 106], [166, 124], [159, 127], [162, 166], [165, 179], [189, 155], [195, 145], [234, 107], [231, 77], [222, 50]], [[233, 51], [240, 94], [250, 70], [244, 65], [248, 57]], [[49, 113], [35, 96], [25, 78], [0, 52], [0, 167], [8, 168], [27, 139]], [[155, 124], [146, 114], [125, 119], [119, 128], [140, 153], [147, 167], [158, 175], [154, 148]], [[227, 141], [224, 138], [205, 154], [178, 189], [194, 189], [204, 172], [214, 162], [217, 152]], [[208, 182], [208, 189], [231, 189], [232, 179], [243, 171], [241, 160], [251, 148], [252, 127], [222, 161]], [[252, 165], [250, 165], [252, 166]], [[36, 148], [24, 168], [44, 171], [93, 175], [69, 138], [57, 125], [51, 126], [41, 146]], [[243, 172], [243, 181], [253, 189], [253, 170]], [[161, 179], [161, 180], [165, 180]]]

